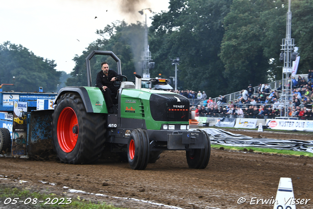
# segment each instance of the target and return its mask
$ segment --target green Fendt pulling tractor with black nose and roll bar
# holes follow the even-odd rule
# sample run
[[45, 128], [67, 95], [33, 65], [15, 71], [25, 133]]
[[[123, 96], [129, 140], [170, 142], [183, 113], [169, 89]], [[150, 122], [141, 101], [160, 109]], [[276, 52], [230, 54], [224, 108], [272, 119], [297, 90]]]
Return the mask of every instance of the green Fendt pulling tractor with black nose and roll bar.
[[[90, 59], [110, 55], [121, 74], [113, 103], [117, 114], [109, 114], [104, 96], [92, 87]], [[190, 168], [203, 169], [210, 158], [209, 135], [189, 131], [189, 100], [177, 93], [141, 89], [122, 75], [120, 60], [111, 51], [92, 51], [86, 58], [88, 87], [62, 88], [53, 113], [53, 143], [63, 163], [96, 162], [104, 152], [124, 154], [130, 167], [143, 170], [155, 163], [164, 150], [185, 150]], [[123, 80], [126, 81], [123, 81]]]

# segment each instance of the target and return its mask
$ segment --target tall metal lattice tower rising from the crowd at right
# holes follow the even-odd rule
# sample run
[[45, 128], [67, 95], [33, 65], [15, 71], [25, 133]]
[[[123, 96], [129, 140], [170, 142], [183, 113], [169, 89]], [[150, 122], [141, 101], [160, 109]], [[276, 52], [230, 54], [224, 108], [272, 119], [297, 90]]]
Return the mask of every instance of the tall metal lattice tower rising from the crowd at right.
[[288, 117], [288, 108], [292, 101], [292, 61], [291, 52], [294, 49], [294, 39], [291, 39], [291, 0], [288, 3], [286, 38], [282, 40], [281, 51], [284, 53], [284, 67], [282, 79], [282, 94], [280, 100], [280, 117]]

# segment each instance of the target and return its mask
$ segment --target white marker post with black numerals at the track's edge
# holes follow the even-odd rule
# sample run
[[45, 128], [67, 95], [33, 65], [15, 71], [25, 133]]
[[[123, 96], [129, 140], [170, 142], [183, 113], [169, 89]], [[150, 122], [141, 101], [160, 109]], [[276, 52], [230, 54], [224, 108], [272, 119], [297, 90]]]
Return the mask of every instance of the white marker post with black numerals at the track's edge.
[[291, 178], [280, 178], [273, 209], [296, 209]]

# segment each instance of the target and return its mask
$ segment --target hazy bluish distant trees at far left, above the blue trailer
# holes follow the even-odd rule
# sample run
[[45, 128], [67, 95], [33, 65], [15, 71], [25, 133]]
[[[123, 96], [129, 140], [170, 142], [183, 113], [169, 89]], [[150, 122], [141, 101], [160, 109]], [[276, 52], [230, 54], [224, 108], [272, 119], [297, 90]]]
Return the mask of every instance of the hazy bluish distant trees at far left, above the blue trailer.
[[3, 91], [56, 92], [61, 71], [55, 70], [54, 60], [34, 55], [22, 45], [9, 41], [0, 44], [0, 83]]

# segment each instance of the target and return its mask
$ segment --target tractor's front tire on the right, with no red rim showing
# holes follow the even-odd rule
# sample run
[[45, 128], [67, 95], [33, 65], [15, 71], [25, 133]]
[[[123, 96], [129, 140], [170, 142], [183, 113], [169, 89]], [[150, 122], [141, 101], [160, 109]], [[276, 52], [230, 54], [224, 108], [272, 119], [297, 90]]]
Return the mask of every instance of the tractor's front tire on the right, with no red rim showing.
[[211, 143], [209, 134], [203, 130], [198, 130], [204, 133], [204, 148], [202, 149], [189, 149], [186, 150], [186, 159], [189, 168], [204, 169], [210, 160]]

